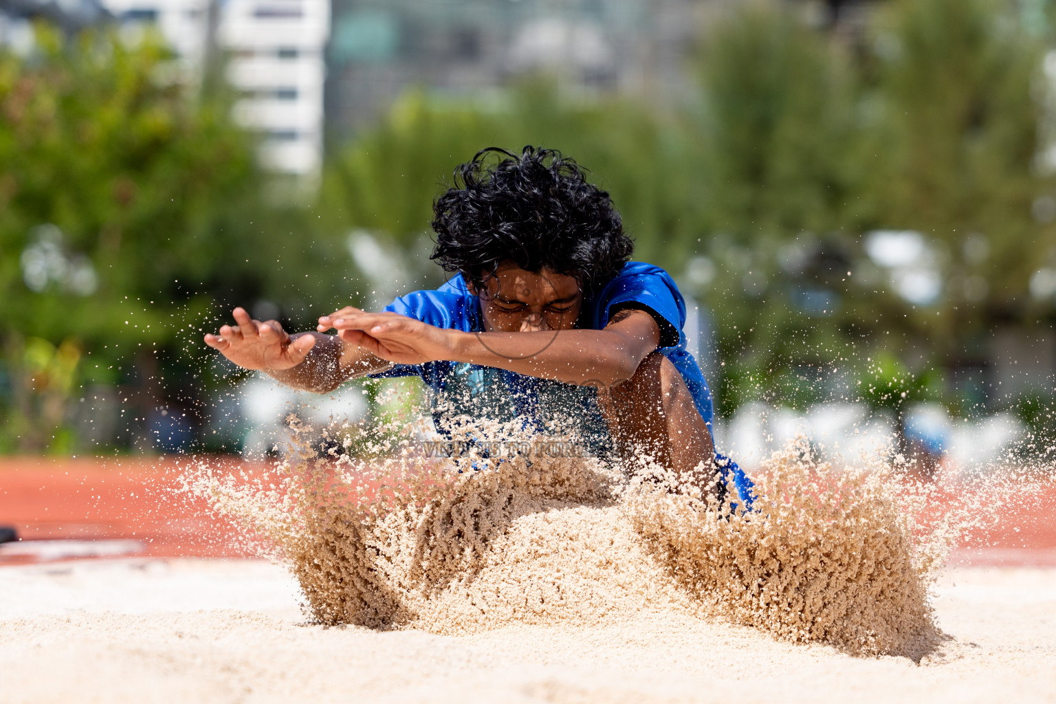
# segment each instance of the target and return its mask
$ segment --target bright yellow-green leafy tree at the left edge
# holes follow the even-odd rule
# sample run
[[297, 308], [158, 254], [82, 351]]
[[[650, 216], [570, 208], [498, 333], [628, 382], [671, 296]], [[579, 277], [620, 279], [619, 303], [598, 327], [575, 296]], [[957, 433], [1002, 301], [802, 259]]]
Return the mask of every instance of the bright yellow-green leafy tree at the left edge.
[[[265, 207], [253, 139], [228, 101], [197, 100], [172, 59], [155, 37], [64, 38], [45, 25], [33, 54], [0, 54], [8, 446], [53, 444], [70, 420], [36, 393], [34, 340], [83, 348], [79, 380], [131, 384], [127, 415], [142, 419], [163, 400], [168, 362], [194, 401], [182, 335], [196, 337], [216, 301], [275, 288], [289, 223]], [[80, 383], [44, 386], [69, 401]]]

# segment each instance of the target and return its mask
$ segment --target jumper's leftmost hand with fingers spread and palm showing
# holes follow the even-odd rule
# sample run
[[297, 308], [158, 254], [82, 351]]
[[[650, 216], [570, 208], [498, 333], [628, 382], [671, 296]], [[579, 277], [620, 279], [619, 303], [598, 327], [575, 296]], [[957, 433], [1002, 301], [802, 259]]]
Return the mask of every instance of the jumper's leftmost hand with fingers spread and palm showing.
[[205, 343], [246, 369], [288, 369], [316, 344], [313, 335], [291, 338], [278, 321], [256, 321], [244, 308], [235, 308], [233, 316], [238, 325], [222, 325], [219, 335], [205, 336]]

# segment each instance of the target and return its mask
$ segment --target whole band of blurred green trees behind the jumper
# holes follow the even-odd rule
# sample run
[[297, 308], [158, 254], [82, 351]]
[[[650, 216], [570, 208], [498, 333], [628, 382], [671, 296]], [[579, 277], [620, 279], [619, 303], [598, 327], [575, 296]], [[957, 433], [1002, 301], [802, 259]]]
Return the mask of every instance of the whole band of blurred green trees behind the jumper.
[[[833, 397], [966, 407], [943, 369], [981, 364], [999, 324], [1054, 316], [1056, 292], [1029, 283], [1051, 271], [1056, 288], [1054, 20], [1003, 0], [890, 0], [848, 36], [799, 7], [729, 3], [676, 106], [545, 77], [411, 91], [328, 145], [310, 204], [259, 171], [229, 96], [191, 89], [156, 40], [41, 27], [32, 56], [0, 54], [8, 437], [71, 446], [71, 401], [91, 384], [137, 388], [139, 417], [162, 397], [203, 401], [218, 369], [199, 328], [231, 305], [303, 328], [376, 302], [371, 282], [395, 273], [357, 270], [354, 233], [394, 252], [401, 286], [436, 283], [433, 198], [477, 150], [529, 144], [588, 168], [636, 258], [713, 311], [721, 413]], [[937, 296], [900, 291], [868, 254], [875, 230], [920, 233]]]

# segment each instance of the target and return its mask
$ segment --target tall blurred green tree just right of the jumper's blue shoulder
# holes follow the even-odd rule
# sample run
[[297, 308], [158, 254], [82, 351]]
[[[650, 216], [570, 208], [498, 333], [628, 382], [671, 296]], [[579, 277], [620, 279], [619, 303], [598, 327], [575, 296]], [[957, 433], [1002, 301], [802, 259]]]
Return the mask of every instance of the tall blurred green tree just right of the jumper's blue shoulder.
[[822, 373], [847, 353], [844, 231], [863, 183], [852, 58], [786, 3], [739, 3], [702, 40], [692, 212], [714, 277], [690, 289], [715, 311], [725, 413], [826, 398]]

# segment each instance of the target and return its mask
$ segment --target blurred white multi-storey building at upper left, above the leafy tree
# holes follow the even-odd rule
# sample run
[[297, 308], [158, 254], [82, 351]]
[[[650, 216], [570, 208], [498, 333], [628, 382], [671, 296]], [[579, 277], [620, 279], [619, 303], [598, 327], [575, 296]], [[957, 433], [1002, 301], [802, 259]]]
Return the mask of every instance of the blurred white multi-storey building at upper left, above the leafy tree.
[[226, 58], [234, 117], [261, 132], [266, 166], [314, 177], [322, 164], [329, 0], [0, 0], [0, 43], [30, 51], [30, 19], [73, 32], [112, 21], [130, 39], [156, 28], [197, 79]]

